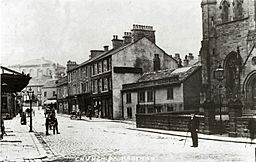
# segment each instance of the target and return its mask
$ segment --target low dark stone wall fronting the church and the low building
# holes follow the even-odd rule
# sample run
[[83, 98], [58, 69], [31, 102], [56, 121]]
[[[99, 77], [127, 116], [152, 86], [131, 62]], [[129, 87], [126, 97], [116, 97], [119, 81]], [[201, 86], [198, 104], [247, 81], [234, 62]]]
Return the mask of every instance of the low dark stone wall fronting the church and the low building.
[[[153, 128], [162, 130], [175, 130], [175, 131], [188, 131], [189, 115], [174, 115], [174, 114], [136, 114], [136, 126], [138, 128]], [[249, 137], [247, 131], [248, 122], [250, 117], [237, 117], [236, 118], [236, 133], [237, 137]], [[199, 118], [199, 132], [205, 132], [204, 117]], [[229, 121], [222, 122], [222, 129], [220, 129], [220, 122], [214, 121], [213, 134], [228, 133]]]

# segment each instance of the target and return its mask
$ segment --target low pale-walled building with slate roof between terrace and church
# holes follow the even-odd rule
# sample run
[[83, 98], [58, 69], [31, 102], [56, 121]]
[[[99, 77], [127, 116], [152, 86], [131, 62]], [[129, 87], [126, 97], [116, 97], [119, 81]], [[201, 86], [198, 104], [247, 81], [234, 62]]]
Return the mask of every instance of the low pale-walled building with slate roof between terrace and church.
[[201, 65], [144, 73], [135, 83], [123, 85], [123, 117], [198, 111], [200, 90]]

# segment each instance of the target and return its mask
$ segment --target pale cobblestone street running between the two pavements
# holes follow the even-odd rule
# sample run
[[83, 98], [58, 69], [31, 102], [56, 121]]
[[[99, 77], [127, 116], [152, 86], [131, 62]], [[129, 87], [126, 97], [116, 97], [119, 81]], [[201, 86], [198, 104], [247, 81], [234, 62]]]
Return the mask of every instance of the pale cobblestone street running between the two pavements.
[[[131, 130], [109, 120], [71, 120], [58, 115], [60, 134], [45, 136], [43, 111], [34, 118], [39, 141], [53, 159], [81, 161], [254, 161], [255, 145], [191, 139]], [[45, 143], [46, 142], [46, 143]], [[185, 144], [185, 145], [184, 145]]]

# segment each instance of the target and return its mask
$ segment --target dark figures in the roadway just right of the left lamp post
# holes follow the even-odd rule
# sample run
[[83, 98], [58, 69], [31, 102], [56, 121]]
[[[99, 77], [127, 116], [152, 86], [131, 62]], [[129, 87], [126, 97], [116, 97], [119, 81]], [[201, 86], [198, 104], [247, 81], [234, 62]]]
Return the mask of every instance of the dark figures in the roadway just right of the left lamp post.
[[46, 135], [50, 135], [49, 130], [53, 130], [53, 134], [57, 133], [60, 134], [58, 129], [58, 120], [56, 118], [55, 110], [53, 109], [52, 112], [48, 113], [46, 115], [45, 119], [45, 129], [46, 129]]

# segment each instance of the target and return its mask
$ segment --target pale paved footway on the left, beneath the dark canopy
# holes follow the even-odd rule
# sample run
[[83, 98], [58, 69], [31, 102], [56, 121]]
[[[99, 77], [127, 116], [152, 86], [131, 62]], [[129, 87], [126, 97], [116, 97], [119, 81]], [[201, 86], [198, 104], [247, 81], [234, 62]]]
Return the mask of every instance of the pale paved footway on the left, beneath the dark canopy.
[[27, 125], [20, 124], [20, 116], [5, 120], [7, 136], [0, 140], [0, 161], [42, 161], [47, 152]]

